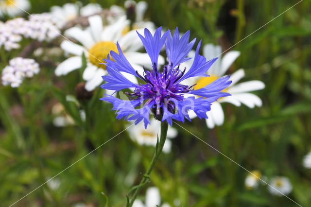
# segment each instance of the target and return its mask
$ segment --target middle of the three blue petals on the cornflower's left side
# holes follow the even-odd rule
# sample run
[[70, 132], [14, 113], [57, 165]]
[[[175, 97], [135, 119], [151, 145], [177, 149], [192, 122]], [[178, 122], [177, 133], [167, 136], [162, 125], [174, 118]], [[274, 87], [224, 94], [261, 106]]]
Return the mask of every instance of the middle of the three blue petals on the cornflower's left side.
[[129, 87], [136, 87], [138, 86], [137, 84], [131, 82], [127, 78], [125, 78], [121, 72], [119, 72], [113, 64], [108, 64], [106, 69], [108, 72], [108, 75], [102, 76], [104, 81], [107, 83], [103, 84], [101, 87], [109, 90], [115, 90], [119, 91], [124, 88], [129, 88]]

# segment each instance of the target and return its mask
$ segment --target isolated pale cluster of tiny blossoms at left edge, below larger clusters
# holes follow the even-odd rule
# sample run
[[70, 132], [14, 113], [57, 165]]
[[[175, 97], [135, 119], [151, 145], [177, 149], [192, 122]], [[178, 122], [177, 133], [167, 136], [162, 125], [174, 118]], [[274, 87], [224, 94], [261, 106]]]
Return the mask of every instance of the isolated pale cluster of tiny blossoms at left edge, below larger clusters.
[[33, 77], [39, 70], [39, 64], [33, 59], [13, 58], [9, 61], [9, 66], [2, 70], [2, 84], [18, 87], [25, 77]]

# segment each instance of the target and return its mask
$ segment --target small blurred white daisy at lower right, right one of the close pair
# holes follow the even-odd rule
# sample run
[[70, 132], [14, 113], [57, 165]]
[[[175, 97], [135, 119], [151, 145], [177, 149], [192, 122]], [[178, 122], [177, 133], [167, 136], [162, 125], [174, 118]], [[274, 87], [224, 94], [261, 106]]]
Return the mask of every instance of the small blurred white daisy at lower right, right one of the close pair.
[[292, 184], [287, 177], [273, 177], [269, 185], [269, 192], [273, 195], [288, 195], [293, 190]]

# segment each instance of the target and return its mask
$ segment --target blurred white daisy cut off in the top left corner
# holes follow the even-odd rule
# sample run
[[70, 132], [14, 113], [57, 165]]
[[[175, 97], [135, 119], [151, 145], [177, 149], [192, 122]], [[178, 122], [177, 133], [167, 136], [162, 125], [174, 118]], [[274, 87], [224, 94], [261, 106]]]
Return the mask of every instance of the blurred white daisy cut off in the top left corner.
[[17, 17], [30, 9], [28, 0], [0, 0], [0, 17]]

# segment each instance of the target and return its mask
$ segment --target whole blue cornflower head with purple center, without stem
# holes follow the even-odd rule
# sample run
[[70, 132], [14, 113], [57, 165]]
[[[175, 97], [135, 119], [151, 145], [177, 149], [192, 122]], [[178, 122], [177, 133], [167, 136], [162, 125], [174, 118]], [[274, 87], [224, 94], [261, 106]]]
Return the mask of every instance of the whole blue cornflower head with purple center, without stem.
[[[117, 110], [117, 119], [135, 120], [136, 124], [143, 120], [146, 128], [148, 123], [150, 124], [150, 113], [153, 113], [156, 119], [167, 121], [170, 125], [173, 119], [182, 122], [185, 118], [190, 120], [189, 110], [193, 110], [200, 119], [207, 119], [206, 112], [210, 110], [211, 103], [221, 97], [230, 96], [229, 93], [222, 91], [231, 84], [229, 76], [221, 77], [196, 90], [193, 86], [182, 84], [182, 81], [190, 77], [209, 76], [205, 73], [217, 58], [207, 61], [200, 55], [200, 41], [190, 69], [179, 69], [181, 63], [190, 59], [187, 55], [196, 39], [189, 42], [189, 31], [179, 37], [178, 28], [173, 36], [170, 31], [163, 35], [161, 32], [160, 27], [154, 35], [148, 29], [144, 30], [144, 36], [137, 33], [150, 56], [153, 68], [144, 69], [142, 74], [131, 66], [117, 43], [118, 53], [111, 51], [112, 58], [108, 55], [107, 59], [104, 59], [108, 75], [103, 76], [106, 83], [101, 87], [116, 92], [124, 88], [134, 88], [134, 92], [127, 93], [129, 100], [121, 100], [111, 95], [106, 95], [101, 100], [113, 104], [112, 109]], [[168, 64], [160, 70], [157, 62], [164, 44]], [[121, 72], [135, 75], [145, 83], [135, 84], [126, 79]]]

